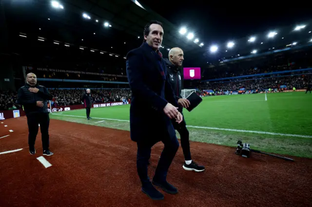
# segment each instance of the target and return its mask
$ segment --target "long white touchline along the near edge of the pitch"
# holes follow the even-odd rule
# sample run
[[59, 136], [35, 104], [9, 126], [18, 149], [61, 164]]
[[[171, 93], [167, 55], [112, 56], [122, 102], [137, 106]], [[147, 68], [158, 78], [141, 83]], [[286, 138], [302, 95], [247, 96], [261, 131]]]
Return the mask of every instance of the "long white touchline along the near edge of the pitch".
[[[53, 114], [53, 113], [52, 113]], [[75, 115], [64, 115], [64, 114], [55, 114], [60, 116], [73, 116], [73, 117], [82, 117], [85, 118], [85, 116], [75, 116]], [[130, 122], [129, 120], [122, 120], [122, 119], [109, 119], [109, 118], [97, 118], [92, 117], [95, 119], [104, 119], [104, 120], [114, 120], [114, 121], [126, 121]], [[207, 129], [207, 130], [222, 130], [222, 131], [230, 131], [230, 132], [248, 132], [248, 133], [259, 133], [259, 134], [271, 134], [271, 135], [280, 135], [280, 136], [293, 136], [293, 137], [302, 137], [302, 138], [312, 138], [311, 135], [300, 135], [300, 134], [288, 134], [288, 133], [274, 133], [274, 132], [259, 132], [259, 131], [249, 131], [249, 130], [233, 130], [233, 129], [223, 129], [223, 128], [215, 128], [215, 127], [198, 127], [198, 126], [190, 126], [187, 125], [187, 127], [191, 128], [198, 128], [198, 129]]]

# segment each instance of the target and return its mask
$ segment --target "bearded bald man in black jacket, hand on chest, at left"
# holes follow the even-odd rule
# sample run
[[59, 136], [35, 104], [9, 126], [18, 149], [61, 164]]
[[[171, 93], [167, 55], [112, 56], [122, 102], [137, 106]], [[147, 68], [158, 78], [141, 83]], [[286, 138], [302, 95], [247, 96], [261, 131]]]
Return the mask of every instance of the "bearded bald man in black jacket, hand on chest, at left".
[[50, 156], [53, 153], [49, 150], [50, 117], [47, 100], [52, 100], [52, 95], [37, 83], [35, 74], [27, 74], [26, 81], [25, 86], [18, 91], [18, 104], [23, 105], [27, 117], [29, 153], [36, 153], [35, 141], [40, 124], [43, 155]]

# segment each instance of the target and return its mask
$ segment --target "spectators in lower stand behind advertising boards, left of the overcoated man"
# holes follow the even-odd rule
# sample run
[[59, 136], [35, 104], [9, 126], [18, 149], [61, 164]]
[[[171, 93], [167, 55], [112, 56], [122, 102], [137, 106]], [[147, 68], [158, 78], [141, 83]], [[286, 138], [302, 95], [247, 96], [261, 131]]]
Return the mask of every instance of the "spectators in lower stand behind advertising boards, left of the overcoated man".
[[[82, 104], [81, 95], [85, 89], [49, 89], [53, 99], [52, 106], [68, 106]], [[131, 91], [129, 89], [91, 89], [91, 99], [93, 103], [107, 103], [115, 101], [129, 101]], [[17, 92], [0, 91], [0, 111], [20, 108], [17, 104]]]

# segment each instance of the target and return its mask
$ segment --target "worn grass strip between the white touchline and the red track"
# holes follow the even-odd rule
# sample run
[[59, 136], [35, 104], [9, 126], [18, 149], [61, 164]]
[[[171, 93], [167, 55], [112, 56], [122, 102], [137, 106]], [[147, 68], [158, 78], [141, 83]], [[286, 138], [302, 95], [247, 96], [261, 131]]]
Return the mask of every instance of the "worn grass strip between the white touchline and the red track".
[[[57, 120], [130, 131], [129, 122], [98, 119], [91, 119], [88, 121], [86, 118], [58, 115], [50, 115], [50, 117]], [[98, 121], [103, 122], [96, 123]], [[249, 143], [251, 145], [251, 148], [254, 150], [265, 151], [273, 154], [279, 154], [282, 156], [292, 155], [297, 157], [312, 158], [311, 138], [285, 137], [274, 136], [270, 134], [227, 132], [192, 128], [188, 128], [188, 130], [190, 132], [190, 140], [233, 147], [233, 153], [235, 152], [235, 148], [237, 146], [237, 140], [242, 140], [243, 142]], [[179, 138], [178, 133], [177, 137]]]

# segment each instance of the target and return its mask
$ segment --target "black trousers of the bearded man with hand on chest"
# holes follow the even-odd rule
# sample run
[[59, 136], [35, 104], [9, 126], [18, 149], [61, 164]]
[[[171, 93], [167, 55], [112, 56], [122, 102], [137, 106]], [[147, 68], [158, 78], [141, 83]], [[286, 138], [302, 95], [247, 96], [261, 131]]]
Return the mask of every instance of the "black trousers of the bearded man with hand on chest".
[[27, 115], [28, 124], [28, 145], [30, 148], [35, 146], [36, 137], [39, 130], [41, 132], [41, 141], [43, 151], [49, 150], [49, 125], [50, 116], [49, 113], [31, 113]]

